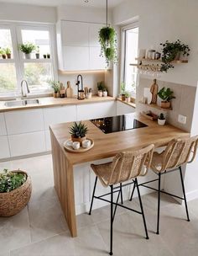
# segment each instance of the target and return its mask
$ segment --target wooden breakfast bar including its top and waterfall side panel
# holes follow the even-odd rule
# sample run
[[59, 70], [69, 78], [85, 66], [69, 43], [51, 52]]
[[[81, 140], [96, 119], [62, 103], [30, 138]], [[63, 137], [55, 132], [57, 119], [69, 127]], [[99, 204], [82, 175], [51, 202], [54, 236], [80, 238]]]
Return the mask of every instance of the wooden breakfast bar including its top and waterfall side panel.
[[148, 126], [105, 134], [91, 121], [83, 121], [89, 129], [87, 137], [94, 140], [94, 147], [83, 153], [67, 152], [63, 147], [64, 142], [70, 139], [69, 127], [71, 123], [50, 126], [55, 190], [72, 237], [77, 236], [74, 188], [74, 167], [76, 165], [90, 164], [96, 160], [114, 157], [117, 152], [135, 150], [149, 144], [154, 144], [156, 148], [163, 147], [173, 138], [190, 136], [189, 133], [172, 125], [160, 126], [142, 115], [133, 115], [136, 120]]

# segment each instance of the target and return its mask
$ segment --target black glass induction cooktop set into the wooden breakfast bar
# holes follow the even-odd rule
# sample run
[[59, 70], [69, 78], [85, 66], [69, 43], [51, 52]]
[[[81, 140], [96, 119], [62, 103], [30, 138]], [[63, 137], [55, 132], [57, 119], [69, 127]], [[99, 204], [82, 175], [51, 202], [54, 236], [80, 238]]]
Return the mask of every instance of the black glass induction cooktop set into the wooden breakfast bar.
[[96, 125], [97, 128], [101, 129], [104, 133], [128, 131], [148, 126], [134, 119], [133, 114], [99, 118], [91, 120], [91, 122]]

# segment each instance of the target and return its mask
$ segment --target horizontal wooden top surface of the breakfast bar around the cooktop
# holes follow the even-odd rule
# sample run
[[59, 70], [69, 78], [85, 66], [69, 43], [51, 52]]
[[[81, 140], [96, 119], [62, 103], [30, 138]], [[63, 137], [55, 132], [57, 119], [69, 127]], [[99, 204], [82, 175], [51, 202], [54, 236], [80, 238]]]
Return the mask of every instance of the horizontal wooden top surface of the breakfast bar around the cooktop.
[[162, 147], [167, 145], [173, 138], [190, 136], [188, 132], [182, 131], [172, 125], [161, 126], [157, 122], [143, 117], [143, 115], [135, 113], [133, 115], [137, 120], [148, 125], [148, 127], [105, 134], [93, 125], [91, 121], [83, 121], [83, 123], [88, 125], [89, 129], [87, 138], [93, 139], [95, 143], [90, 151], [83, 153], [66, 152], [63, 147], [64, 141], [70, 138], [69, 127], [72, 123], [51, 125], [50, 131], [54, 134], [65, 157], [72, 165], [113, 157], [117, 152], [135, 150], [153, 143], [155, 147]]

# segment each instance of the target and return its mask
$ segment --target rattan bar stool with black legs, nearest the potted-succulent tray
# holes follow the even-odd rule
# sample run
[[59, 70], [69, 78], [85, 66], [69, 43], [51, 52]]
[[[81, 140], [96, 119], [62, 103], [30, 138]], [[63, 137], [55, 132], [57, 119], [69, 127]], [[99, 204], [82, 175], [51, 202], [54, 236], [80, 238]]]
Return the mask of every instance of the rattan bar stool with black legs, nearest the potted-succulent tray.
[[[143, 167], [145, 167], [143, 174], [145, 175], [147, 173], [151, 163], [152, 156], [153, 156], [153, 151], [154, 151], [154, 145], [149, 145], [148, 147], [144, 147], [143, 149], [140, 149], [134, 152], [120, 152], [115, 157], [113, 157], [113, 160], [111, 163], [103, 163], [98, 165], [91, 164], [91, 168], [96, 174], [96, 180], [94, 184], [89, 215], [91, 215], [91, 209], [92, 209], [94, 198], [98, 200], [107, 201], [111, 204], [110, 253], [109, 253], [110, 255], [112, 255], [112, 223], [116, 214], [117, 205], [125, 209], [128, 209], [130, 211], [137, 212], [138, 214], [142, 214], [146, 238], [148, 239], [147, 226], [146, 226], [146, 221], [143, 213], [142, 200], [141, 200], [139, 189], [138, 189], [137, 177], [142, 172]], [[101, 181], [104, 187], [110, 186], [111, 192], [105, 195], [96, 196], [95, 191], [96, 191], [97, 179]], [[132, 179], [133, 179], [133, 183], [137, 184], [138, 199], [139, 199], [141, 211], [136, 211], [134, 209], [128, 208], [127, 206], [118, 204], [119, 196], [122, 195], [122, 186], [128, 185], [128, 184], [122, 185], [122, 182], [131, 181]], [[116, 184], [118, 184], [118, 186], [113, 187]], [[130, 182], [130, 184], [132, 184], [132, 182]], [[118, 193], [117, 201], [113, 202], [113, 193], [116, 193], [116, 192]], [[111, 195], [111, 200], [104, 199], [103, 197], [106, 195]], [[113, 205], [115, 205], [114, 209], [113, 209]]]

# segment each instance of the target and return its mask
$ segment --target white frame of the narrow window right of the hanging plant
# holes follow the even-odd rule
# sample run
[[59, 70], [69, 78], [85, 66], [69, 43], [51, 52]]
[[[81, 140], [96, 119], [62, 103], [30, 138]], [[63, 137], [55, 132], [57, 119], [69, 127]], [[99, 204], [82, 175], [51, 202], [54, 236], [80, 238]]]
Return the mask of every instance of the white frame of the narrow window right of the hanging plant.
[[[126, 31], [129, 29], [139, 29], [139, 23], [138, 21], [135, 21], [133, 23], [124, 25], [121, 27], [121, 65], [120, 65], [120, 84], [125, 83], [125, 65], [126, 65], [126, 46], [127, 46], [127, 33]], [[139, 40], [138, 40], [139, 41]], [[138, 75], [137, 75], [137, 82], [138, 83]], [[135, 96], [136, 93], [133, 93]]]

